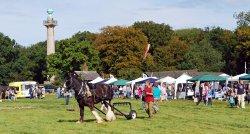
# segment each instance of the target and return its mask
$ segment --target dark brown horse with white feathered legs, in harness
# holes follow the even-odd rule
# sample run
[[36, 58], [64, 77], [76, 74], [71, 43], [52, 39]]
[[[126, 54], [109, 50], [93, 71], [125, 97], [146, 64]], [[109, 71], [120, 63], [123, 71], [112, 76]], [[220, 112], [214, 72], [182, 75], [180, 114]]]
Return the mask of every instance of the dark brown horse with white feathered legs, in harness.
[[[75, 98], [80, 109], [80, 119], [78, 123], [82, 123], [84, 121], [85, 106], [89, 107], [92, 114], [95, 116], [97, 123], [103, 122], [103, 119], [95, 111], [94, 105], [100, 102], [111, 102], [114, 95], [111, 87], [105, 84], [97, 84], [95, 85], [94, 90], [90, 90], [87, 81], [82, 81], [79, 76], [75, 72], [73, 72], [69, 74], [65, 82], [65, 90], [69, 91], [70, 89], [74, 90]], [[107, 103], [104, 104], [106, 104], [106, 107], [108, 109], [106, 113], [106, 120], [115, 120], [116, 117], [111, 107]]]

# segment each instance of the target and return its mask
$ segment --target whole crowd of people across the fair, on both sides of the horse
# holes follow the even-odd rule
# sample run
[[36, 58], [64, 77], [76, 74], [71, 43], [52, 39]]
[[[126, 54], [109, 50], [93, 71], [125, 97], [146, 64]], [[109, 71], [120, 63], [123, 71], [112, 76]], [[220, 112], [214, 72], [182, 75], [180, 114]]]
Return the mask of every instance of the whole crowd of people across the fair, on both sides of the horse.
[[[192, 90], [194, 92], [193, 99], [196, 105], [202, 101], [204, 105], [211, 107], [213, 99], [215, 99], [215, 83], [214, 82], [195, 82], [191, 88], [185, 91]], [[242, 80], [238, 83], [220, 84], [217, 88], [221, 90], [224, 100], [227, 100], [230, 107], [245, 108], [245, 100], [250, 103], [250, 84], [244, 84]], [[130, 85], [112, 86], [114, 98], [135, 98], [141, 100], [141, 108], [145, 110], [151, 118], [159, 110], [158, 102], [174, 99], [175, 87], [174, 84], [167, 83], [145, 83], [136, 84], [134, 88]], [[179, 89], [177, 89], [178, 91]], [[29, 88], [30, 99], [44, 98], [45, 88], [43, 86], [31, 86]], [[66, 92], [64, 88], [58, 87], [56, 90], [57, 98], [65, 98], [66, 105], [69, 104], [69, 98], [73, 96], [72, 92]], [[6, 90], [6, 99], [15, 100], [16, 90], [9, 88]]]

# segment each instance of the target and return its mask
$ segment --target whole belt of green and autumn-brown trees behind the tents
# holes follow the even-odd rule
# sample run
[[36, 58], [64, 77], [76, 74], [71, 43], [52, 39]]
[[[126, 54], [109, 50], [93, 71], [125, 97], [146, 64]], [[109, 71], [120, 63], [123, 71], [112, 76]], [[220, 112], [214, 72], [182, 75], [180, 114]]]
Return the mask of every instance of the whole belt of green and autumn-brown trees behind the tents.
[[[198, 69], [230, 75], [250, 67], [250, 12], [235, 15], [235, 30], [190, 28], [173, 30], [152, 21], [132, 26], [107, 26], [100, 33], [78, 32], [56, 42], [56, 53], [46, 57], [46, 42], [22, 47], [0, 34], [0, 83], [47, 77], [62, 80], [70, 70], [97, 70], [132, 79], [145, 71]], [[150, 49], [144, 59], [147, 44]], [[47, 62], [46, 62], [47, 61]], [[48, 63], [48, 66], [47, 66]]]

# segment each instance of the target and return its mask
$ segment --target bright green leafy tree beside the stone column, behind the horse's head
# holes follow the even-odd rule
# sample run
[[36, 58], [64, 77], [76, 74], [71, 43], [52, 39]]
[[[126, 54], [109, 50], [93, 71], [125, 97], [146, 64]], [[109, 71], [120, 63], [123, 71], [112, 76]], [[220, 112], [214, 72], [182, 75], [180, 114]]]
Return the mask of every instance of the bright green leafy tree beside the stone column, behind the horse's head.
[[98, 69], [98, 52], [93, 48], [93, 44], [83, 38], [77, 34], [56, 43], [56, 53], [47, 57], [49, 76], [62, 78], [71, 70], [83, 70], [85, 63], [89, 70]]

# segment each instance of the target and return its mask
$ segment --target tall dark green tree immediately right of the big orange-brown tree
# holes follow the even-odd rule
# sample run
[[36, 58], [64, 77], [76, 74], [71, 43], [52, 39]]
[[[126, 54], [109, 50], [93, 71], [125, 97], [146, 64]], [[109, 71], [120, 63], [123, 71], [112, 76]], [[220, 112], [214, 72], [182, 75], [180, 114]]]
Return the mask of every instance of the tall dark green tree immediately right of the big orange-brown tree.
[[170, 65], [169, 62], [169, 58], [171, 57], [169, 56], [169, 54], [171, 54], [169, 47], [170, 40], [174, 33], [172, 28], [164, 23], [158, 24], [153, 21], [135, 22], [133, 27], [141, 30], [151, 45], [149, 54], [152, 55], [152, 57], [147, 57], [147, 63], [151, 64], [147, 65], [146, 62], [144, 62], [143, 70], [162, 71], [174, 69], [175, 67]]

